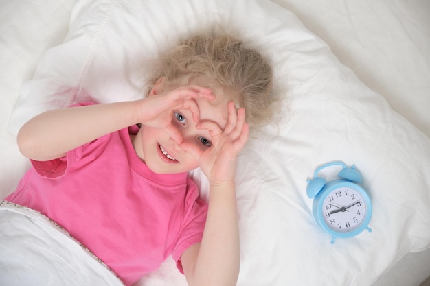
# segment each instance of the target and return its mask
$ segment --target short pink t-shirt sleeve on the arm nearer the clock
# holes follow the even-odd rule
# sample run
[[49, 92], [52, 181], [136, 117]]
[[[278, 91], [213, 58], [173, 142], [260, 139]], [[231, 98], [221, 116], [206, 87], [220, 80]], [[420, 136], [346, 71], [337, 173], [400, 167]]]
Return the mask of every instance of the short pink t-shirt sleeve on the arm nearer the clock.
[[201, 242], [207, 217], [207, 202], [198, 197], [199, 191], [194, 183], [192, 183], [191, 188], [192, 190], [189, 189], [188, 191], [191, 191], [193, 195], [190, 195], [188, 200], [192, 200], [192, 203], [188, 204], [190, 205], [189, 211], [185, 216], [181, 233], [178, 235], [177, 243], [172, 253], [172, 257], [177, 262], [177, 267], [182, 274], [181, 255], [190, 246]]

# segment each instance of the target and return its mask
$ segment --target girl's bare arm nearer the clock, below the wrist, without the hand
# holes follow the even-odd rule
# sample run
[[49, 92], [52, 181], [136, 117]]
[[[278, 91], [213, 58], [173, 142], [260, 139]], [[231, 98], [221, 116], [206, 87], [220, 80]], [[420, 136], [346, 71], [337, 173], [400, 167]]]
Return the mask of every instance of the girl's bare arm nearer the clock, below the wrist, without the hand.
[[203, 239], [181, 256], [188, 285], [236, 285], [240, 243], [234, 182], [210, 187]]

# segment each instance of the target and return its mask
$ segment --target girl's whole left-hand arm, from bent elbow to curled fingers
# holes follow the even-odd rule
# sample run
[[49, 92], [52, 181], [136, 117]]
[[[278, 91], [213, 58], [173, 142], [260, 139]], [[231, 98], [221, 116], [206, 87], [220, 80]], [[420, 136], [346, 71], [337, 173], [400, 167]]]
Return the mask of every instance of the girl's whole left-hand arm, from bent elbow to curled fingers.
[[[183, 107], [188, 99], [197, 97], [214, 98], [208, 88], [182, 86], [134, 102], [49, 110], [30, 119], [19, 130], [19, 149], [28, 158], [52, 160], [100, 136], [136, 123], [163, 128], [177, 137], [179, 135], [171, 126], [172, 108]], [[179, 140], [178, 137], [176, 139]]]

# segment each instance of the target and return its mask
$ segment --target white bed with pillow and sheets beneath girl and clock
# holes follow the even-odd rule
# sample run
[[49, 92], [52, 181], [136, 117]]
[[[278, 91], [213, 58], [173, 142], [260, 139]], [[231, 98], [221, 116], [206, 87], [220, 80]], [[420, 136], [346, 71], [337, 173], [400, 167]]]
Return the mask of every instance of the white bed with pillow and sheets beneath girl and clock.
[[[420, 285], [430, 275], [429, 13], [425, 0], [3, 0], [1, 198], [30, 167], [15, 143], [27, 119], [81, 101], [82, 88], [97, 102], [137, 99], [161, 47], [216, 23], [270, 58], [280, 97], [239, 158], [238, 285]], [[372, 232], [330, 244], [306, 180], [335, 160], [361, 171]], [[190, 176], [207, 198], [201, 172]], [[112, 275], [97, 264], [89, 275]], [[168, 259], [135, 285], [185, 279]]]

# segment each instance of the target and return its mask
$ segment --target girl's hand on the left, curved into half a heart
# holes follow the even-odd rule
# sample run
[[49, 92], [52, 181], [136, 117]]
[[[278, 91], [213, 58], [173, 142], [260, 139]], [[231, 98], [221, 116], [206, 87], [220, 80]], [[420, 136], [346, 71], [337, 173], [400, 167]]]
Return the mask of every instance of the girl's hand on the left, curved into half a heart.
[[193, 120], [199, 122], [199, 106], [192, 99], [205, 98], [214, 100], [215, 95], [210, 88], [197, 85], [188, 85], [175, 88], [159, 95], [150, 95], [141, 100], [139, 108], [139, 123], [152, 128], [165, 130], [178, 143], [182, 142], [182, 137], [177, 128], [172, 125], [174, 110], [188, 109], [192, 113]]

